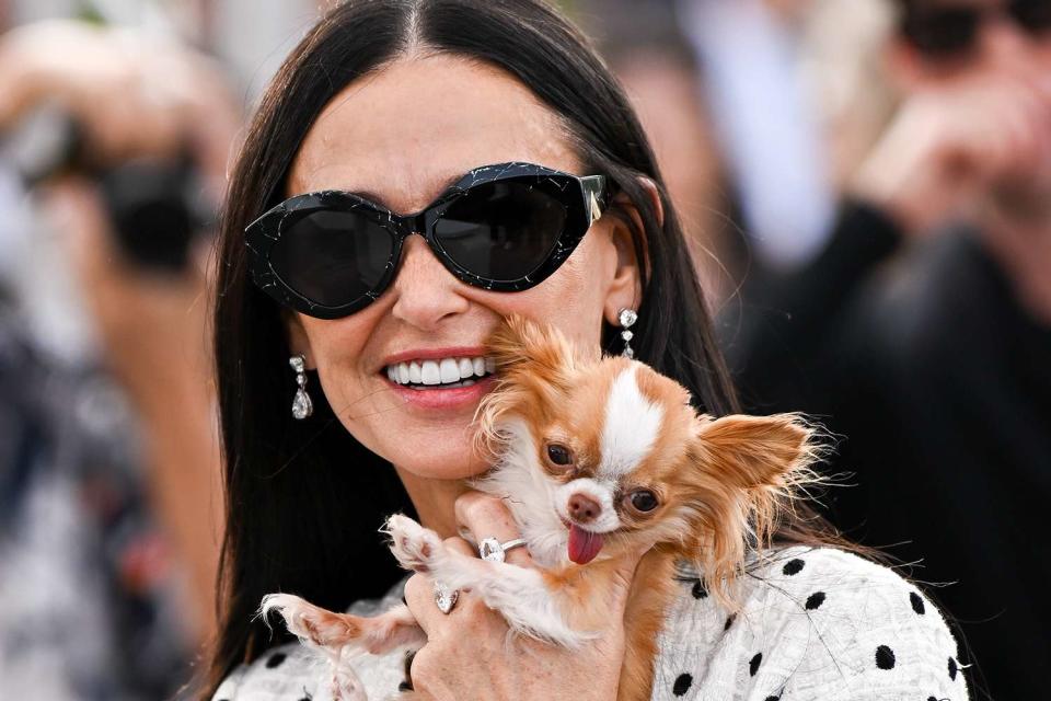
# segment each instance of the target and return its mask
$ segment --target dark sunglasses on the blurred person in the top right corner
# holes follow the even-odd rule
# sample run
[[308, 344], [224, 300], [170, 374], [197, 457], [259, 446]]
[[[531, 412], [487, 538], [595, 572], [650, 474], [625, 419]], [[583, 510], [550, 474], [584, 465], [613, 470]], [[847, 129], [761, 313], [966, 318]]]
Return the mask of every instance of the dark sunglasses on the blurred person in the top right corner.
[[902, 18], [902, 35], [934, 60], [961, 58], [974, 50], [984, 22], [1006, 14], [1032, 36], [1051, 30], [1051, 0], [1009, 0], [1003, 5], [915, 8]]

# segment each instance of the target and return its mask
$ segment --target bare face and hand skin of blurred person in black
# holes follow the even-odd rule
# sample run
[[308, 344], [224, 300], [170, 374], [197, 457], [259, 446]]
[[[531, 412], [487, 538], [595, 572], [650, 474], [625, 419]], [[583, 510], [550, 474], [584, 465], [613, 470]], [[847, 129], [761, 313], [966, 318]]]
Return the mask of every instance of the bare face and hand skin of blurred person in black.
[[1051, 323], [1051, 33], [1035, 37], [1001, 14], [966, 56], [932, 60], [899, 37], [888, 66], [904, 99], [854, 195], [915, 234], [973, 223], [1023, 306]]

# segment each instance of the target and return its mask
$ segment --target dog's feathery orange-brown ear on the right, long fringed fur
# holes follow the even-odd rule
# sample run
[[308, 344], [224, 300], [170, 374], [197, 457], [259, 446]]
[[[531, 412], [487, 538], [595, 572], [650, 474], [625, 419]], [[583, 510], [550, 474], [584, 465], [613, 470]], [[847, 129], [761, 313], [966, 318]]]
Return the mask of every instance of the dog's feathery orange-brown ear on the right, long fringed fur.
[[799, 414], [702, 416], [683, 474], [695, 541], [690, 543], [708, 590], [732, 606], [728, 584], [750, 549], [770, 543], [784, 508], [821, 482], [810, 466], [823, 447]]

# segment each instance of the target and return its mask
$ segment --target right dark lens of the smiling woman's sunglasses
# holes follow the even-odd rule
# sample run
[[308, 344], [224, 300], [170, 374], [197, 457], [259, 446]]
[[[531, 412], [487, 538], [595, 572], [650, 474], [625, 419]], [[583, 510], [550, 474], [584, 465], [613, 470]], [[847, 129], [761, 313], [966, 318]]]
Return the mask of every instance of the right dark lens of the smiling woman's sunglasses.
[[438, 220], [435, 238], [460, 267], [509, 281], [547, 260], [565, 225], [566, 206], [553, 193], [535, 182], [503, 181], [455, 200]]

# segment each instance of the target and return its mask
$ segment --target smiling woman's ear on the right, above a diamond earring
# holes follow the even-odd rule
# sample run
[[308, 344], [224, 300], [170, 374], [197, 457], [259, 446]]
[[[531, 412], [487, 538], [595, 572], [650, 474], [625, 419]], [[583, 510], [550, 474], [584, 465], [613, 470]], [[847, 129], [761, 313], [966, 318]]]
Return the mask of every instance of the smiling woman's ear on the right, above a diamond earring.
[[[657, 226], [665, 226], [665, 208], [660, 200], [660, 192], [657, 188], [657, 183], [645, 176], [640, 176], [638, 182], [643, 186], [643, 192], [649, 198], [650, 206], [657, 216]], [[611, 217], [613, 219], [613, 228], [610, 235], [616, 250], [616, 271], [610, 284], [603, 314], [605, 315], [607, 322], [616, 326], [620, 325], [619, 315], [622, 309], [638, 309], [643, 299], [643, 283], [639, 266], [647, 266], [648, 277], [649, 261], [639, 261], [635, 252], [635, 238], [632, 235], [633, 228], [638, 232], [638, 235], [643, 238], [643, 251], [646, 251], [648, 248], [647, 241], [645, 240], [646, 228], [643, 226], [643, 218], [639, 216], [635, 203], [624, 193], [619, 193], [616, 197], [613, 198], [613, 202], [631, 220], [631, 226], [628, 226], [623, 219]]]

